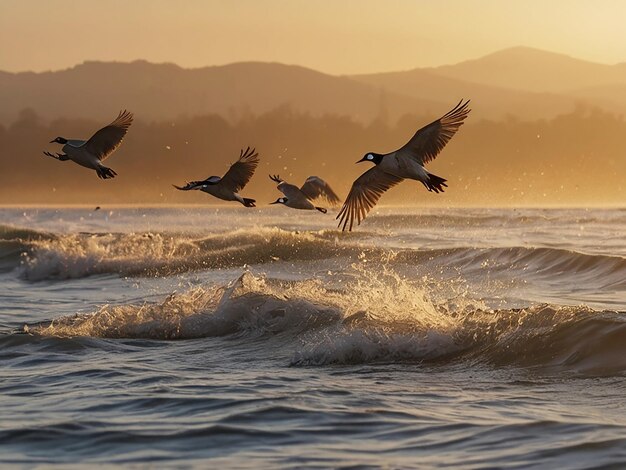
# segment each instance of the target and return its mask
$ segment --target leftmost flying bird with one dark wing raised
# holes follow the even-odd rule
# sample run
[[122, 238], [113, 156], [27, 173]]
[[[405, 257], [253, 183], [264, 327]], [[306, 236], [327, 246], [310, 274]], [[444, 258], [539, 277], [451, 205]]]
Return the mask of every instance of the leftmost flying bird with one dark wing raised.
[[63, 153], [53, 155], [44, 152], [44, 155], [62, 162], [72, 160], [81, 166], [96, 170], [98, 177], [102, 179], [114, 178], [117, 173], [104, 166], [102, 162], [120, 146], [132, 123], [133, 114], [126, 110], [120, 111], [111, 124], [100, 129], [89, 140], [57, 137], [50, 143], [63, 145], [61, 148]]

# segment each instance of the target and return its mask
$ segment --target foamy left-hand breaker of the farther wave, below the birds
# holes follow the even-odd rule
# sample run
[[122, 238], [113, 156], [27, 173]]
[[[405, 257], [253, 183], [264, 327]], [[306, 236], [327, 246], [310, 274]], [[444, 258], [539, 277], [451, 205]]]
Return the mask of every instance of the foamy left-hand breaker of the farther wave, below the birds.
[[19, 275], [29, 281], [94, 274], [172, 275], [278, 260], [306, 261], [359, 251], [358, 247], [340, 245], [336, 232], [323, 230], [256, 228], [203, 238], [161, 233], [69, 234], [30, 241], [24, 247]]

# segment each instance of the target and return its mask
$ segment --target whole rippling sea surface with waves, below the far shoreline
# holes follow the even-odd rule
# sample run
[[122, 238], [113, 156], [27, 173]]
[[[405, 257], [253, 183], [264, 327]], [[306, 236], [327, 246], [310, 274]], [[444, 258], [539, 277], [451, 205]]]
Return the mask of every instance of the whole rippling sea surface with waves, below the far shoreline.
[[626, 210], [0, 209], [0, 465], [626, 468]]

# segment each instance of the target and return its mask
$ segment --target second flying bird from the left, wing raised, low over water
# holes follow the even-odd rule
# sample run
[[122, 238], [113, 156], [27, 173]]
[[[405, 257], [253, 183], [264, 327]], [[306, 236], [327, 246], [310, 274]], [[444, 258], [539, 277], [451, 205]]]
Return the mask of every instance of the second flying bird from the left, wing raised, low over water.
[[181, 191], [198, 189], [211, 196], [224, 201], [238, 201], [245, 207], [256, 207], [255, 200], [241, 197], [238, 192], [248, 184], [259, 164], [259, 154], [255, 149], [248, 147], [245, 151], [241, 149], [239, 159], [233, 163], [226, 174], [219, 176], [209, 176], [203, 181], [191, 181], [185, 186], [172, 185]]

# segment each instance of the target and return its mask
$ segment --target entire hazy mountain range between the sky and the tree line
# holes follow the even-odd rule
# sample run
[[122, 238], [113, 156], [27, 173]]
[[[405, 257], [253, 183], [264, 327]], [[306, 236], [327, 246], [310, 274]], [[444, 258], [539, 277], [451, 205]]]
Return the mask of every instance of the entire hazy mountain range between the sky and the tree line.
[[144, 121], [207, 114], [234, 121], [279, 107], [393, 123], [405, 114], [440, 115], [461, 98], [472, 100], [477, 119], [536, 120], [580, 105], [624, 113], [625, 89], [626, 64], [595, 64], [527, 47], [456, 65], [354, 76], [263, 62], [198, 69], [85, 62], [56, 72], [0, 72], [0, 124], [13, 122], [25, 108], [46, 120], [101, 122], [120, 108]]

